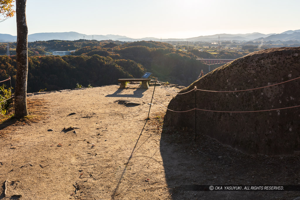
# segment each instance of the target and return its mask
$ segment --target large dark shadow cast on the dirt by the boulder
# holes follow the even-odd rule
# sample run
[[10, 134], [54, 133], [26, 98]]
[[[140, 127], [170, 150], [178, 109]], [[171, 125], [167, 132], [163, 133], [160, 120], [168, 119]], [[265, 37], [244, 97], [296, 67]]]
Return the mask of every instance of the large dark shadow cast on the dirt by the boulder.
[[[164, 121], [160, 151], [171, 199], [294, 199], [294, 191], [185, 191], [184, 185], [299, 185], [298, 156], [247, 155]], [[186, 131], [184, 131], [186, 130]]]

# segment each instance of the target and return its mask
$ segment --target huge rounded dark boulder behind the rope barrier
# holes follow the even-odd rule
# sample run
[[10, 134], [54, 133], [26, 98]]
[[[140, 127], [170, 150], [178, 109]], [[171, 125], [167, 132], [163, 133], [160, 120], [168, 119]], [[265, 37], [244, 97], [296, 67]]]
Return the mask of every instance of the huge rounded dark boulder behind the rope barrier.
[[[258, 88], [300, 76], [300, 47], [253, 52], [206, 74], [184, 93], [198, 89], [235, 91]], [[300, 79], [267, 88], [230, 93], [197, 91], [196, 107], [215, 111], [258, 111], [300, 105]], [[195, 92], [176, 95], [168, 109], [193, 109]], [[194, 111], [167, 111], [165, 120], [175, 127], [195, 125]], [[280, 155], [300, 151], [300, 107], [250, 113], [197, 110], [198, 134], [249, 154]], [[298, 152], [296, 152], [298, 153]]]

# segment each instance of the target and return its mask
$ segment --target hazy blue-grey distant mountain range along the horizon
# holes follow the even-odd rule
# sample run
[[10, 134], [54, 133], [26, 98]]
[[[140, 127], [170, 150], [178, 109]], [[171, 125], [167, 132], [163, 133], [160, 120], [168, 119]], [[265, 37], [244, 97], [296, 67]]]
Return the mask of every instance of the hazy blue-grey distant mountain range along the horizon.
[[[35, 33], [28, 35], [28, 41], [33, 42], [37, 40], [119, 40], [119, 41], [140, 41], [140, 40], [153, 40], [153, 41], [214, 41], [218, 40], [240, 40], [240, 41], [250, 41], [250, 40], [300, 40], [300, 29], [299, 30], [289, 30], [280, 34], [262, 34], [262, 33], [248, 33], [248, 34], [215, 34], [206, 35], [191, 38], [169, 38], [169, 39], [159, 39], [155, 37], [144, 37], [144, 38], [130, 38], [121, 35], [86, 35], [77, 32], [63, 32], [63, 33]], [[0, 42], [13, 42], [16, 41], [16, 36], [10, 34], [0, 34]]]

